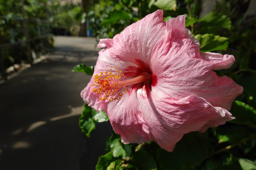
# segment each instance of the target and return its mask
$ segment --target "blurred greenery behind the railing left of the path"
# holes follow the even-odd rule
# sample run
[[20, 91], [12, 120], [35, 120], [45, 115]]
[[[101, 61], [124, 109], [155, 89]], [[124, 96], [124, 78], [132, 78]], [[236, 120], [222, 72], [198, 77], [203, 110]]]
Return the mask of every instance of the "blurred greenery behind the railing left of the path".
[[[47, 36], [49, 33], [55, 31], [57, 34], [75, 36], [85, 16], [81, 3], [63, 4], [59, 0], [24, 0], [23, 9], [24, 13], [22, 0], [0, 0], [0, 45], [5, 45], [0, 47], [0, 63], [4, 67], [1, 68], [0, 65], [0, 78], [3, 76], [1, 69], [14, 64], [29, 63], [28, 43], [18, 42], [35, 39], [29, 45], [36, 57], [39, 57], [54, 45], [54, 38]], [[24, 28], [24, 18], [27, 29]], [[42, 22], [38, 24], [36, 20]], [[8, 43], [16, 45], [6, 45]]]

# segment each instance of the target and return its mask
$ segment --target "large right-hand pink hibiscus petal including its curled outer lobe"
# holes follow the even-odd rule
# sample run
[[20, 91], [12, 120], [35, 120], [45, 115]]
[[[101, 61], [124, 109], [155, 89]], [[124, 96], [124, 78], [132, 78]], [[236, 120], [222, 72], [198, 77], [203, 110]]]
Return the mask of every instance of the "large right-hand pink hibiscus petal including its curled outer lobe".
[[219, 77], [212, 69], [228, 67], [233, 56], [221, 58], [219, 54], [207, 53], [202, 59], [202, 53], [190, 39], [170, 40], [168, 36], [161, 38], [153, 49], [151, 65], [157, 86], [152, 90], [162, 89], [177, 99], [196, 94], [213, 106], [229, 110], [243, 89], [232, 79]]

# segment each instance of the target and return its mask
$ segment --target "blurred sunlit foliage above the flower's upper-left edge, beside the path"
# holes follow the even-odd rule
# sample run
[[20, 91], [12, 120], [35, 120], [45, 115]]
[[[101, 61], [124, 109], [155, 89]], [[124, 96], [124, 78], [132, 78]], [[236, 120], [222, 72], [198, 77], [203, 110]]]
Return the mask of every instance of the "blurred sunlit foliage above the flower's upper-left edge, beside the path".
[[113, 38], [125, 27], [137, 22], [143, 16], [155, 11], [147, 9], [149, 0], [99, 0], [87, 13], [89, 26], [97, 41]]

